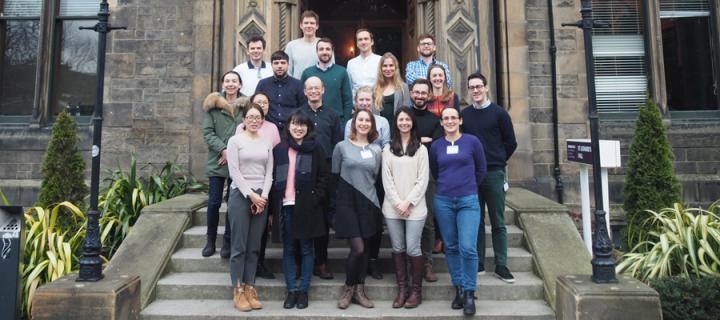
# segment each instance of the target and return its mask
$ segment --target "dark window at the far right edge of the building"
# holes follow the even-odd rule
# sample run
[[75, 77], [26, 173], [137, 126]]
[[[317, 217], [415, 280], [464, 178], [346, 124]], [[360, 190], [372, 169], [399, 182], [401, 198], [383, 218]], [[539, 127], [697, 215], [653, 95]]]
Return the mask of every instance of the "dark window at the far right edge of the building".
[[667, 103], [671, 111], [716, 110], [717, 34], [708, 0], [660, 0]]

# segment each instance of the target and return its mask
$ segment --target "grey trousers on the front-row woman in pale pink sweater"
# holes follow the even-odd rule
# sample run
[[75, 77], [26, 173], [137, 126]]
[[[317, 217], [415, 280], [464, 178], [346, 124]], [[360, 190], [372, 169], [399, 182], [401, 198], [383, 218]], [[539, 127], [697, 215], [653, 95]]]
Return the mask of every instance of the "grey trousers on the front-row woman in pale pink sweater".
[[255, 285], [258, 252], [267, 223], [267, 206], [261, 214], [250, 212], [250, 200], [238, 189], [230, 190], [228, 218], [230, 219], [230, 280], [233, 287]]

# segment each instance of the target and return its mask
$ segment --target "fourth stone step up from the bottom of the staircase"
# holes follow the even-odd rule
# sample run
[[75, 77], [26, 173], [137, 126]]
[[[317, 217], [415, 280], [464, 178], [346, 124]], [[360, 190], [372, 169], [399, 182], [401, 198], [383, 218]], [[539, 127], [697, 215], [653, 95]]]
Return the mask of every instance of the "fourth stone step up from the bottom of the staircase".
[[[523, 231], [515, 225], [508, 225], [507, 228], [507, 241], [508, 247], [522, 247], [523, 245]], [[183, 247], [204, 247], [205, 246], [205, 232], [207, 231], [206, 226], [195, 226], [185, 230], [182, 237]], [[224, 226], [218, 227], [218, 235], [222, 235], [225, 232]], [[334, 231], [330, 230], [330, 248], [345, 248], [347, 247], [347, 240], [336, 239], [334, 237]], [[270, 237], [270, 235], [268, 235]], [[215, 245], [220, 248], [222, 246], [222, 237], [217, 237]], [[281, 243], [268, 241], [268, 248], [282, 248]], [[492, 234], [490, 233], [490, 226], [485, 226], [485, 245], [492, 247]], [[380, 244], [382, 248], [390, 248], [390, 236], [387, 230], [383, 233], [383, 239]]]

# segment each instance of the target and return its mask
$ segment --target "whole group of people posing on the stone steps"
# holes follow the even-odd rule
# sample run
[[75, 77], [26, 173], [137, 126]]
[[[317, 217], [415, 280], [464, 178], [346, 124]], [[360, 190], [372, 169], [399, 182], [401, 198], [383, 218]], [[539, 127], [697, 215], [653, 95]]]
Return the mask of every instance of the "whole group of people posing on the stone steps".
[[408, 63], [403, 81], [392, 53], [373, 53], [369, 30], [357, 30], [360, 54], [346, 69], [334, 63], [332, 41], [316, 37], [318, 27], [317, 14], [304, 12], [303, 37], [273, 52], [269, 63], [262, 60], [265, 40], [251, 38], [248, 61], [225, 73], [222, 91], [205, 99], [202, 255], [215, 254], [227, 186], [220, 256], [230, 260], [238, 310], [262, 308], [255, 278], [274, 277], [263, 261], [269, 229], [283, 244], [283, 306], [306, 308], [312, 276], [334, 277], [330, 228], [350, 248], [338, 307], [372, 308], [365, 278], [382, 278], [377, 259], [387, 226], [398, 286], [393, 308], [422, 303], [423, 279], [437, 281], [433, 250], [444, 250], [456, 289], [451, 307], [475, 314], [486, 211], [495, 276], [514, 282], [504, 222], [505, 167], [517, 147], [510, 116], [489, 100], [479, 73], [467, 79], [472, 104], [460, 107], [429, 34], [418, 37], [420, 57]]

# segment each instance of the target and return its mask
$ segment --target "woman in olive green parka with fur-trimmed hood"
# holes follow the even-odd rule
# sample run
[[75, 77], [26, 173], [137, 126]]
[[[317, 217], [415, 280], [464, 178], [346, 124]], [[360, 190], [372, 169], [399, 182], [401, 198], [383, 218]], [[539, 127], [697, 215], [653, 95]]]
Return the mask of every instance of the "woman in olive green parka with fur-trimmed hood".
[[[227, 143], [235, 132], [235, 127], [242, 121], [241, 106], [247, 102], [247, 98], [240, 94], [242, 79], [240, 79], [237, 72], [226, 72], [220, 78], [220, 81], [223, 90], [209, 94], [203, 102], [205, 118], [203, 119], [202, 130], [205, 143], [208, 145], [205, 174], [208, 177], [210, 187], [207, 208], [207, 243], [202, 249], [203, 257], [209, 257], [215, 253], [222, 194], [225, 190], [226, 181], [228, 186], [232, 182], [228, 176]], [[220, 256], [222, 258], [230, 256], [230, 224], [227, 216], [225, 216], [225, 234], [223, 235]]]

